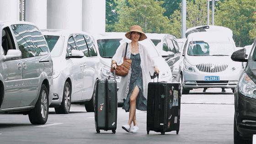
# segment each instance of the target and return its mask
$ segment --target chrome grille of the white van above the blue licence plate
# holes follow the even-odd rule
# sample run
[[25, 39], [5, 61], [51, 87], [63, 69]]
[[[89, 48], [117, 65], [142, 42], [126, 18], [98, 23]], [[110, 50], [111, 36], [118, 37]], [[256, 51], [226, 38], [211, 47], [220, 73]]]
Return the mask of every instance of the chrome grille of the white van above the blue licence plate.
[[207, 73], [217, 73], [228, 68], [228, 64], [197, 64], [197, 69]]

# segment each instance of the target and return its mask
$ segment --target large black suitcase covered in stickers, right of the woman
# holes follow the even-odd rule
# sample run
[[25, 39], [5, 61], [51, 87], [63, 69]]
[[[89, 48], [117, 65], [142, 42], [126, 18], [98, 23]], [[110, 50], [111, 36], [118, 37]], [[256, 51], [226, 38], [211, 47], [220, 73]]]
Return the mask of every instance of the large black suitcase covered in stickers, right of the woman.
[[150, 130], [161, 134], [176, 131], [178, 134], [180, 109], [180, 83], [150, 82], [147, 100], [147, 134]]

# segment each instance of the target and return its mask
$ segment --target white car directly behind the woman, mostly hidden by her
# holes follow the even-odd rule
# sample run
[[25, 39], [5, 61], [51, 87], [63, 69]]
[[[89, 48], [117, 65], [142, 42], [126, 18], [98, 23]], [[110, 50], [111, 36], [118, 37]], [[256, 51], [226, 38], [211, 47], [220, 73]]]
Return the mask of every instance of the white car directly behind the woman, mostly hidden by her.
[[[131, 42], [131, 40], [126, 38], [124, 35], [124, 32], [106, 32], [94, 36], [99, 53], [101, 55], [102, 78], [106, 78], [108, 76], [113, 77], [112, 73], [110, 72], [111, 59], [113, 55], [116, 53], [116, 50], [120, 44]], [[149, 38], [140, 41], [139, 43], [149, 48], [149, 54], [152, 56], [153, 59], [155, 59], [156, 63], [158, 64], [160, 69], [159, 80], [171, 82], [171, 69], [169, 68], [165, 60], [161, 57], [159, 49], [155, 47], [154, 43], [149, 40]], [[151, 75], [153, 75], [153, 73], [154, 69], [151, 69]], [[120, 79], [121, 77], [117, 77], [117, 86], [120, 85]], [[124, 97], [117, 96], [118, 103], [123, 103], [123, 98]]]

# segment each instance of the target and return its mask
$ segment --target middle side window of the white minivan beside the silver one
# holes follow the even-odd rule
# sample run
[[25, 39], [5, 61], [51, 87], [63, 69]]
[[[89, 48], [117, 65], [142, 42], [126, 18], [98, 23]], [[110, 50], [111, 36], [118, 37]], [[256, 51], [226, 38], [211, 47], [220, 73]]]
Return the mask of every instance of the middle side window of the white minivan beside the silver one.
[[77, 50], [80, 50], [84, 53], [86, 57], [89, 57], [89, 52], [87, 48], [87, 44], [85, 42], [85, 38], [83, 35], [75, 35], [75, 42], [77, 46]]

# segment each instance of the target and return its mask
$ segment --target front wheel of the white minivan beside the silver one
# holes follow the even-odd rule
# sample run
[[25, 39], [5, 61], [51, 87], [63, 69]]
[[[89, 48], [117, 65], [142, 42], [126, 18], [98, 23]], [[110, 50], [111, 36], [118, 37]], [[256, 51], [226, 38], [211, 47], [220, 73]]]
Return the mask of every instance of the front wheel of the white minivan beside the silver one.
[[58, 114], [68, 114], [71, 107], [71, 87], [69, 82], [65, 82], [62, 102], [60, 107], [55, 107], [55, 112]]

